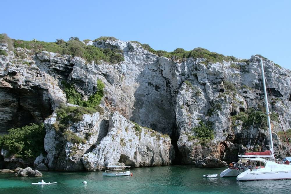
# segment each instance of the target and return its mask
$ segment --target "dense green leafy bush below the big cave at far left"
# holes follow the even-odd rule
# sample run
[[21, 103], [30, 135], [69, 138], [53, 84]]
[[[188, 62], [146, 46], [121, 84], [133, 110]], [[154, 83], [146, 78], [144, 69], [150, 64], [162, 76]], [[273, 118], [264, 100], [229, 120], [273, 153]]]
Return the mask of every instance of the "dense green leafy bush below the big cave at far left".
[[0, 135], [0, 148], [15, 154], [17, 158], [34, 160], [44, 153], [45, 127], [31, 124], [22, 128], [12, 128], [8, 134]]

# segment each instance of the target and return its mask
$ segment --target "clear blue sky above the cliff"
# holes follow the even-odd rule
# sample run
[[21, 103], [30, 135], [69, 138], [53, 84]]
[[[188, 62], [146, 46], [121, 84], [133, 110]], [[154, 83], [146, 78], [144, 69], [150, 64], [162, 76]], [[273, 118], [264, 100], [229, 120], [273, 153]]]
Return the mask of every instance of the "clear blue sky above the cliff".
[[1, 1], [0, 33], [55, 41], [114, 36], [155, 50], [192, 50], [250, 58], [262, 54], [291, 69], [291, 1]]

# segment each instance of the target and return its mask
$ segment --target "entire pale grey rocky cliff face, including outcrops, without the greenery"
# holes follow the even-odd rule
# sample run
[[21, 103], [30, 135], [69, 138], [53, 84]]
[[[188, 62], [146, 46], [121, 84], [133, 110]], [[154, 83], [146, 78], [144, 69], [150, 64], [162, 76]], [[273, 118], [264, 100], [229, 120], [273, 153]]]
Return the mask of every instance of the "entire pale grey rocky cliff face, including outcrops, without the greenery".
[[[33, 54], [21, 48], [12, 52], [5, 44], [0, 47], [8, 52], [0, 60], [0, 132], [44, 121], [50, 169], [101, 170], [102, 165], [122, 161], [134, 167], [173, 162], [214, 167], [237, 160], [239, 151], [268, 149], [267, 130], [252, 127], [239, 117], [251, 115], [252, 107], [261, 107], [263, 112], [260, 56], [246, 62], [176, 61], [130, 41], [90, 44], [118, 48], [125, 61], [88, 63], [80, 57], [45, 51]], [[264, 66], [269, 93], [275, 98], [271, 110], [277, 107], [284, 128], [289, 129], [291, 72], [268, 59]], [[73, 144], [54, 128], [53, 112], [66, 103], [61, 82], [74, 84], [86, 100], [96, 91], [97, 80], [105, 84], [100, 104], [105, 113], [84, 114], [82, 121], [72, 124], [68, 130], [86, 139]], [[130, 121], [150, 129], [136, 129]], [[212, 131], [213, 138], [198, 138], [202, 125]], [[275, 152], [285, 150], [277, 136], [281, 130], [277, 117], [272, 120], [272, 130]]]

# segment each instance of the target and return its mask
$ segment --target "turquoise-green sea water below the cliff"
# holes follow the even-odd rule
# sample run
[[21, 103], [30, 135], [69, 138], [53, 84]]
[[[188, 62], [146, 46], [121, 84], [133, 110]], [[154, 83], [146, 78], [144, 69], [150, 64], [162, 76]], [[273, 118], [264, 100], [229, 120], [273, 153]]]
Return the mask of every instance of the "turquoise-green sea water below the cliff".
[[[42, 177], [0, 173], [0, 193], [290, 193], [291, 180], [236, 181], [236, 177], [203, 178], [225, 168], [160, 166], [132, 168], [133, 176], [103, 177], [102, 172], [43, 172]], [[33, 182], [58, 182], [31, 185]], [[82, 181], [87, 181], [83, 185]]]

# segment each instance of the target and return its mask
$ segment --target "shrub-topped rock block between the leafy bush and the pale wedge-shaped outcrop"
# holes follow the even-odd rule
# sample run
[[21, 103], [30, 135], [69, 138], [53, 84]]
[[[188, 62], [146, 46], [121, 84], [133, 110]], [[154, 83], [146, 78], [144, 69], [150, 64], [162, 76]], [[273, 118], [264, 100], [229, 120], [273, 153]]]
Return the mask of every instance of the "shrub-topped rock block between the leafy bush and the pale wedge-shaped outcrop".
[[45, 120], [45, 151], [49, 169], [54, 170], [84, 170], [81, 157], [84, 153], [93, 149], [98, 140], [106, 135], [107, 118], [99, 112], [93, 115], [84, 114], [83, 120], [73, 124], [67, 130], [85, 140], [76, 144], [66, 140], [61, 131], [57, 131], [53, 124], [56, 122], [56, 114]]

